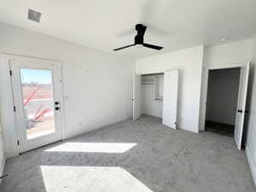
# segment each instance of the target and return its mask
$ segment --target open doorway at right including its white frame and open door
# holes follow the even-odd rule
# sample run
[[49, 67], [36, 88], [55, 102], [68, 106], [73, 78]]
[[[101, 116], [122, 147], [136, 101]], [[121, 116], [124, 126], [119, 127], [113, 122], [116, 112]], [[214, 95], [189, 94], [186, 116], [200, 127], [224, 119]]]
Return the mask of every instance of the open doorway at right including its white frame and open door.
[[[246, 103], [250, 66], [250, 62], [247, 62], [208, 67], [203, 78], [201, 101], [205, 104], [201, 108], [201, 131], [234, 136], [239, 150], [245, 114], [248, 113]], [[235, 130], [232, 131], [234, 126]]]

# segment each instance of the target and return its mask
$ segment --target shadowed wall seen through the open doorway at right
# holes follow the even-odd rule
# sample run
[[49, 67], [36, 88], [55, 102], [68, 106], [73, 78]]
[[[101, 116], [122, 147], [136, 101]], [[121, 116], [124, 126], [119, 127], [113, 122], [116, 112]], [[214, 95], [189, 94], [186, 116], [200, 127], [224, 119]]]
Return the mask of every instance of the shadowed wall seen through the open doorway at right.
[[210, 70], [207, 90], [207, 120], [236, 123], [241, 68]]

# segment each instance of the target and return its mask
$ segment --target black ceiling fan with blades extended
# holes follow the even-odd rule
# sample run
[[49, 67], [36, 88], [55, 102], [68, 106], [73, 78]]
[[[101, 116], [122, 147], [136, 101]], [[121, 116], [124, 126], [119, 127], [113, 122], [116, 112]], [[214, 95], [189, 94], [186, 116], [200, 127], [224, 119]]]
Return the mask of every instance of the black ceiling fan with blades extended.
[[163, 47], [157, 46], [157, 45], [153, 45], [153, 44], [144, 44], [144, 34], [146, 32], [147, 26], [143, 26], [143, 24], [137, 24], [135, 27], [136, 31], [137, 31], [137, 35], [134, 38], [134, 44], [129, 44], [126, 45], [124, 47], [120, 47], [117, 49], [113, 49], [114, 51], [120, 50], [120, 49], [125, 49], [125, 48], [129, 48], [129, 47], [133, 47], [136, 45], [142, 45], [143, 47], [147, 47], [150, 49], [163, 49]]

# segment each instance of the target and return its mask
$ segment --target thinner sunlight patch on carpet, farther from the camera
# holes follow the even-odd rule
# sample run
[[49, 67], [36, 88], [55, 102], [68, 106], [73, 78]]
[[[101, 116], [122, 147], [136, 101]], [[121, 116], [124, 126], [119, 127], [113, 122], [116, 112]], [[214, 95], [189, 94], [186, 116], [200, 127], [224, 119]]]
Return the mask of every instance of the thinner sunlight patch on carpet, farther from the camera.
[[137, 143], [64, 143], [47, 152], [125, 153]]

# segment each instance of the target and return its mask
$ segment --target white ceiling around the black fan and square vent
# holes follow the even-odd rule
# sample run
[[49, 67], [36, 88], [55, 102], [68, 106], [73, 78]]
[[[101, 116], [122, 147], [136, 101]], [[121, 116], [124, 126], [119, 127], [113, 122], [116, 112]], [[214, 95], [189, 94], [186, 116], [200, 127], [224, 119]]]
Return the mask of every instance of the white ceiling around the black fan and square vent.
[[[39, 24], [27, 9], [42, 13]], [[137, 23], [148, 26], [144, 41], [162, 45], [124, 49], [140, 58], [198, 44], [221, 44], [256, 32], [255, 0], [1, 0], [0, 20], [86, 46], [112, 51], [133, 43]]]

